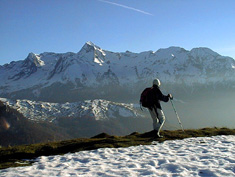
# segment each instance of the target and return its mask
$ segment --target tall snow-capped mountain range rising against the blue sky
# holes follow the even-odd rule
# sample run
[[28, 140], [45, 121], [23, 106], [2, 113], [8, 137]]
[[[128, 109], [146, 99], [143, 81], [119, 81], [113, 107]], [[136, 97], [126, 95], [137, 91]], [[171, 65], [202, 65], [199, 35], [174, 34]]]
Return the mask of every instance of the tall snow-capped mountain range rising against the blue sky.
[[[165, 84], [235, 86], [235, 60], [208, 48], [115, 53], [87, 42], [78, 53], [30, 53], [0, 66], [0, 96], [50, 102], [139, 93], [158, 77]], [[126, 96], [125, 95], [125, 96]], [[124, 97], [125, 97], [124, 96]]]

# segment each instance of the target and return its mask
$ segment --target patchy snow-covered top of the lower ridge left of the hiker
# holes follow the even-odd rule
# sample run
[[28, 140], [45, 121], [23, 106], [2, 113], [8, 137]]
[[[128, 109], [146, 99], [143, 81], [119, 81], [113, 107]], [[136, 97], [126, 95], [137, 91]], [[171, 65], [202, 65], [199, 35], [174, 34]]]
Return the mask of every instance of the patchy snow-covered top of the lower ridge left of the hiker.
[[144, 117], [137, 105], [115, 103], [96, 99], [74, 103], [48, 103], [31, 100], [16, 100], [0, 98], [10, 107], [22, 113], [26, 118], [33, 121], [53, 122], [59, 117], [71, 118], [94, 118], [95, 120], [109, 120], [117, 117]]

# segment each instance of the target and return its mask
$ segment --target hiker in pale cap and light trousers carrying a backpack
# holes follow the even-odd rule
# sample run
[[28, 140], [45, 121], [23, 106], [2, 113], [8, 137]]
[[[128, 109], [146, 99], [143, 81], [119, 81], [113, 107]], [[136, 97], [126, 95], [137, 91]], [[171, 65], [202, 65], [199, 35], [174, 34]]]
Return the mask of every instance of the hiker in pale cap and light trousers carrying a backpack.
[[[151, 88], [146, 88], [147, 90], [147, 105], [143, 105], [143, 100], [140, 100], [142, 105], [144, 107], [147, 107], [150, 115], [153, 119], [153, 129], [154, 131], [157, 132], [156, 136], [157, 137], [163, 137], [160, 135], [161, 128], [163, 127], [163, 124], [165, 122], [165, 115], [162, 111], [162, 107], [160, 104], [160, 101], [168, 102], [169, 98], [173, 99], [171, 94], [168, 94], [167, 96], [163, 95], [161, 90], [160, 90], [160, 85], [161, 82], [159, 79], [154, 79], [153, 80], [153, 86]], [[145, 92], [145, 90], [142, 92], [142, 94]], [[142, 98], [141, 94], [141, 99]]]

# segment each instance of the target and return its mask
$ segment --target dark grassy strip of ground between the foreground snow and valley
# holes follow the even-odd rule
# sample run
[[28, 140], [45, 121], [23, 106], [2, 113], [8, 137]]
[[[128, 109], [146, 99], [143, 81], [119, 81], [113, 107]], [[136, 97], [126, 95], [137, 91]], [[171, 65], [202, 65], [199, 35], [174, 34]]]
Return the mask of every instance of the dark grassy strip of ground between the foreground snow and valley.
[[[164, 138], [155, 138], [155, 132], [146, 132], [139, 134], [134, 132], [127, 136], [110, 136], [106, 133], [99, 134], [92, 138], [81, 138], [60, 142], [21, 145], [0, 149], [0, 168], [14, 166], [30, 165], [36, 157], [56, 154], [65, 154], [68, 152], [78, 152], [83, 150], [92, 150], [97, 148], [117, 148], [136, 145], [149, 145], [152, 141], [163, 142], [165, 140], [183, 139], [189, 137], [204, 137], [216, 135], [235, 135], [235, 129], [228, 128], [203, 128], [175, 131], [163, 131]], [[25, 160], [26, 159], [26, 160]]]

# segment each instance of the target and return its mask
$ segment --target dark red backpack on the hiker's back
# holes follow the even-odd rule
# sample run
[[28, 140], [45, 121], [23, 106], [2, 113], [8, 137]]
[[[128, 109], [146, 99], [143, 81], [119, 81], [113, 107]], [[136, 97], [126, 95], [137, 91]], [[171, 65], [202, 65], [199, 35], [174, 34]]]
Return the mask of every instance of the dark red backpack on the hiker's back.
[[140, 95], [140, 104], [145, 108], [151, 108], [154, 105], [153, 88], [148, 87]]

